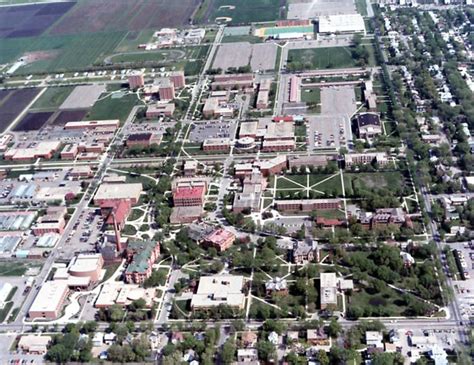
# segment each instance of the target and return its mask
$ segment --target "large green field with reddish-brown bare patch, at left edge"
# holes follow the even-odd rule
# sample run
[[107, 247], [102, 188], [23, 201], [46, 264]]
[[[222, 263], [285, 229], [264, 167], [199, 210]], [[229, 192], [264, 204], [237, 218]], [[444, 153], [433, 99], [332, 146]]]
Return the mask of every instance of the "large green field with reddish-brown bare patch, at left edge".
[[33, 61], [16, 74], [67, 72], [89, 69], [112, 53], [125, 32], [82, 33], [62, 36], [0, 39], [0, 63], [14, 62], [22, 56]]

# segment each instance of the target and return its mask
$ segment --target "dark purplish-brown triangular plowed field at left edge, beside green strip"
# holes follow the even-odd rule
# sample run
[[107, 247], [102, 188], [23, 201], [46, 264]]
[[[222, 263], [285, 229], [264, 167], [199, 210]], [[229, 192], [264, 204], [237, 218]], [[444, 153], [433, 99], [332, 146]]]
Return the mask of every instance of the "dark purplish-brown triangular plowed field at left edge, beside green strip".
[[0, 132], [3, 132], [15, 120], [40, 90], [18, 89], [0, 100]]

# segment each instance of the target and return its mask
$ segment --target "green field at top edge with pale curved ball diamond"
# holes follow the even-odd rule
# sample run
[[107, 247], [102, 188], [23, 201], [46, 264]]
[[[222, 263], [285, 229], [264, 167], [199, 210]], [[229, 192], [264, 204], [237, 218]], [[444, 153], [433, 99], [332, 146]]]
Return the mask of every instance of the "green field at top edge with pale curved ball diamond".
[[248, 24], [281, 19], [280, 0], [211, 0], [203, 21], [232, 18], [227, 24]]

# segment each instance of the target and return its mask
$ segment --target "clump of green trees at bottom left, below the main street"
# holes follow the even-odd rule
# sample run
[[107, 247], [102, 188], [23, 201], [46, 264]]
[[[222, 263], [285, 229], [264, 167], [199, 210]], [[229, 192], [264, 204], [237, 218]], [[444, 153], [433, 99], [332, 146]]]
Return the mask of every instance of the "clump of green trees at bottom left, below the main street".
[[[62, 334], [53, 337], [52, 345], [46, 353], [46, 360], [55, 363], [71, 361], [88, 363], [92, 361], [92, 336], [97, 329], [97, 322], [68, 324]], [[88, 335], [81, 337], [80, 335]]]

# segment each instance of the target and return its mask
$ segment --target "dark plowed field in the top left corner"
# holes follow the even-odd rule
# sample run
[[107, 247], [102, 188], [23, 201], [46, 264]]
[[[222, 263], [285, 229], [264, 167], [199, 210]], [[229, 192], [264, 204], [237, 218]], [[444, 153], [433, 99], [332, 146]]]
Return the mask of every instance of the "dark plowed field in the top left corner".
[[0, 8], [0, 38], [34, 37], [43, 34], [75, 2], [31, 4]]

